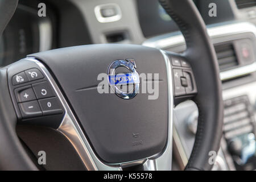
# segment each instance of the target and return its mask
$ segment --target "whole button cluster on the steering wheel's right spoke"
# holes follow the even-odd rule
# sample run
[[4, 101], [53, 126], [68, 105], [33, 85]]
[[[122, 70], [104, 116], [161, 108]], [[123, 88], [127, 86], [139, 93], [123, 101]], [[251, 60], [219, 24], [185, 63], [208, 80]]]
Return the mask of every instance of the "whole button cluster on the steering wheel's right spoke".
[[195, 78], [190, 65], [183, 58], [171, 56], [175, 96], [196, 94]]

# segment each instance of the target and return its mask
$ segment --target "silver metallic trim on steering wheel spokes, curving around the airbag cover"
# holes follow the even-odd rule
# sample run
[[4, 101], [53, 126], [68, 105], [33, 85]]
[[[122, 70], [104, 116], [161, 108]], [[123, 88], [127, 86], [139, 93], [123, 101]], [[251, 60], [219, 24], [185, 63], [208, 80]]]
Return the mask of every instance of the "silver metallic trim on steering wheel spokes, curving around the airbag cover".
[[171, 62], [167, 56], [167, 53], [160, 50], [167, 67], [167, 77], [168, 77], [168, 138], [166, 148], [160, 154], [151, 156], [148, 159], [141, 159], [133, 162], [127, 162], [122, 164], [104, 164], [100, 159], [97, 158], [96, 154], [88, 140], [86, 139], [79, 123], [77, 122], [75, 115], [72, 113], [67, 101], [65, 100], [63, 94], [58, 88], [56, 82], [53, 80], [51, 74], [48, 72], [47, 68], [44, 67], [40, 61], [33, 57], [27, 57], [42, 69], [44, 75], [46, 75], [48, 81], [52, 85], [53, 90], [55, 90], [56, 96], [59, 98], [61, 104], [64, 107], [65, 114], [63, 121], [61, 122], [57, 131], [60, 131], [68, 140], [71, 142], [77, 153], [79, 154], [82, 162], [88, 170], [102, 170], [102, 171], [122, 171], [122, 166], [131, 166], [137, 163], [143, 163], [144, 170], [171, 170], [172, 162], [172, 121], [173, 121], [173, 109], [174, 109], [174, 96], [172, 93], [172, 69]]

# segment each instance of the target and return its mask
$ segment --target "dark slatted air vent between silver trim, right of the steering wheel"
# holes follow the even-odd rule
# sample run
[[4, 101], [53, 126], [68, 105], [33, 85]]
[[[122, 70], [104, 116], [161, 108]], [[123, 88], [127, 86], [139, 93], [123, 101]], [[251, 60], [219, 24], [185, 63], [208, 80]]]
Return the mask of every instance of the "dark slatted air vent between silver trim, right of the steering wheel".
[[238, 65], [236, 52], [232, 43], [215, 46], [215, 51], [221, 71]]

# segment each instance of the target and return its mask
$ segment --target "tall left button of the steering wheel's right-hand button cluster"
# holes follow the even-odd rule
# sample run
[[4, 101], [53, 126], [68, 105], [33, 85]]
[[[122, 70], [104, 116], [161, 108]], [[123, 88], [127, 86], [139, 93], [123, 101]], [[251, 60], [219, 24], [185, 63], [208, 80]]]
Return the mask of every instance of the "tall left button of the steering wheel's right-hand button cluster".
[[186, 94], [185, 88], [181, 85], [181, 79], [183, 77], [183, 72], [181, 69], [174, 69], [174, 91], [175, 96], [181, 96]]

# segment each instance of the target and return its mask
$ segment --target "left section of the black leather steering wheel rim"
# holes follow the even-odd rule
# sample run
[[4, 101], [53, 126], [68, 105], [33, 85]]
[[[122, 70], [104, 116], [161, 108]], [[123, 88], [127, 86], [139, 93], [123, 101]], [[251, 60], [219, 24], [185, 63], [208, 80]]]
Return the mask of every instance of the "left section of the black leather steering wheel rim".
[[[0, 36], [13, 16], [18, 0], [0, 1]], [[11, 104], [6, 70], [0, 71], [0, 170], [37, 170], [16, 135], [16, 114]]]

